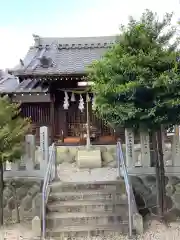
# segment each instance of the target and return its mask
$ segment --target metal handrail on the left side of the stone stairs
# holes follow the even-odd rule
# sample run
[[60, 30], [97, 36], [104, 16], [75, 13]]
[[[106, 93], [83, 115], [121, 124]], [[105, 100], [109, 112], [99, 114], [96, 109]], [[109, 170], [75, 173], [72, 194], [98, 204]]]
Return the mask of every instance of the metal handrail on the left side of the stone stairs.
[[49, 183], [55, 178], [55, 144], [50, 146], [48, 166], [42, 188], [42, 238], [46, 237], [46, 204], [49, 197]]

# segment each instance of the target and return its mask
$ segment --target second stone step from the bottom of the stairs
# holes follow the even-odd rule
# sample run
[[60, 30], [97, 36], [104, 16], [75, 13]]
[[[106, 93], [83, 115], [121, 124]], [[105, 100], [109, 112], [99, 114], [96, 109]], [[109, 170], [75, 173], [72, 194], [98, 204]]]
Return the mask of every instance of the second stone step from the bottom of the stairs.
[[120, 224], [128, 221], [127, 209], [122, 209], [120, 213], [48, 213], [46, 216], [47, 228], [58, 228], [62, 226], [81, 226], [96, 224]]

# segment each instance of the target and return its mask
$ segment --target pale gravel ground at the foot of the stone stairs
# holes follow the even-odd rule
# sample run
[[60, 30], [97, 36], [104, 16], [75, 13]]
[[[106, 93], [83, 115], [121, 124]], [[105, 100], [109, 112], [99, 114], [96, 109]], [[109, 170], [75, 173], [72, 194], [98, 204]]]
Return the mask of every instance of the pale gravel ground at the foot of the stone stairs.
[[[168, 227], [153, 220], [146, 222], [147, 230], [141, 235], [134, 237], [134, 240], [179, 240], [180, 239], [180, 223], [171, 223]], [[9, 232], [6, 238], [3, 238], [3, 233]], [[33, 239], [33, 233], [31, 227], [27, 224], [14, 224], [7, 228], [1, 229], [0, 239], [8, 240], [23, 240]], [[83, 240], [84, 238], [77, 238], [76, 240]], [[86, 238], [88, 239], [88, 238]], [[117, 236], [115, 234], [109, 235], [109, 237], [92, 237], [89, 240], [126, 240], [127, 236]], [[64, 239], [67, 240], [67, 239]], [[69, 240], [69, 239], [68, 239]]]

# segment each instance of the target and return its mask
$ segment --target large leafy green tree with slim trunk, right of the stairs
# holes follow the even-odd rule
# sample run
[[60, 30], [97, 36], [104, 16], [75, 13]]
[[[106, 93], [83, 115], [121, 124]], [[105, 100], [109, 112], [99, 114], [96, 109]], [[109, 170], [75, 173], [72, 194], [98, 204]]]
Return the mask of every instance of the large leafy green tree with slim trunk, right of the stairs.
[[[115, 129], [148, 129], [154, 140], [159, 214], [164, 215], [162, 126], [180, 123], [178, 39], [172, 14], [130, 17], [116, 43], [88, 69], [96, 112]], [[98, 94], [97, 94], [98, 93]], [[157, 140], [157, 141], [156, 141]]]

